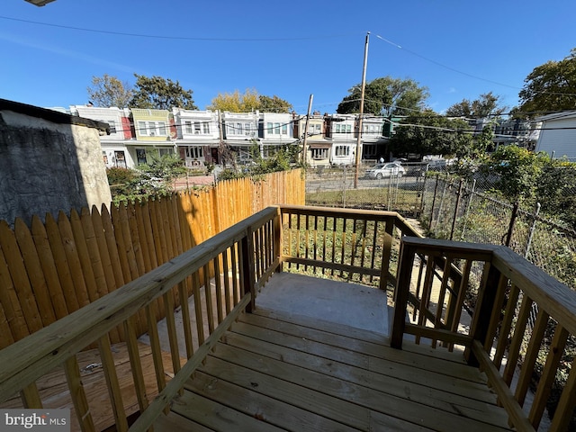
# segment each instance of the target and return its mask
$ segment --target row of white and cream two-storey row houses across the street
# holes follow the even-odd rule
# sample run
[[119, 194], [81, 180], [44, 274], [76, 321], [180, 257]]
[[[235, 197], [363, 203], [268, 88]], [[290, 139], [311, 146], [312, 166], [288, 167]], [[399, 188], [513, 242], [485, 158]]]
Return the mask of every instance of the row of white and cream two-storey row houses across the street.
[[[72, 105], [69, 113], [110, 125], [101, 137], [107, 167], [135, 167], [146, 163], [150, 151], [179, 155], [190, 168], [227, 163], [223, 152], [237, 162], [251, 159], [258, 147], [262, 157], [273, 157], [279, 148], [299, 146], [306, 136], [305, 160], [310, 166], [354, 165], [356, 162], [356, 114], [320, 114], [308, 120], [296, 113], [218, 112], [138, 108], [100, 108]], [[366, 160], [385, 157], [385, 119], [363, 119], [361, 156]]]

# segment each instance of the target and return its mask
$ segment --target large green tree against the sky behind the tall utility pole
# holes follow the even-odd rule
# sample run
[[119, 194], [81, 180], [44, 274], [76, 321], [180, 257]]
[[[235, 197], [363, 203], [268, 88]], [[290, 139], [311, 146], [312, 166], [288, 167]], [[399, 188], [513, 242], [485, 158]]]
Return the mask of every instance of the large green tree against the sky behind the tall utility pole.
[[[360, 84], [349, 89], [349, 94], [338, 104], [336, 112], [360, 112], [361, 92]], [[413, 79], [383, 76], [366, 83], [364, 112], [374, 115], [408, 115], [424, 109], [428, 96], [428, 87], [420, 87]]]

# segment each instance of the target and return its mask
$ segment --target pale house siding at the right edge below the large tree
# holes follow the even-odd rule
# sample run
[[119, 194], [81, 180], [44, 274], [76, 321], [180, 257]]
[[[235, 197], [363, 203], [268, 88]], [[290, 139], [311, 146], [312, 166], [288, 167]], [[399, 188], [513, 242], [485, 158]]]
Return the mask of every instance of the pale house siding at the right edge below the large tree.
[[[562, 115], [562, 114], [556, 114]], [[576, 159], [576, 112], [562, 118], [544, 117], [536, 151], [545, 151], [554, 157]]]

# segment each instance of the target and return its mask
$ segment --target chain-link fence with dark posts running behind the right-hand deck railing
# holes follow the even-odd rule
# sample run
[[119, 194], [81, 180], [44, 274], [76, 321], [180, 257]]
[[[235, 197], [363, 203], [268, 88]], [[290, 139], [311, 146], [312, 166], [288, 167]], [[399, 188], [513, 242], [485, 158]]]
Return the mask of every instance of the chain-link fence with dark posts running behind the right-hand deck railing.
[[576, 288], [576, 231], [533, 209], [503, 202], [490, 182], [449, 175], [426, 178], [420, 220], [436, 238], [506, 245], [554, 278]]

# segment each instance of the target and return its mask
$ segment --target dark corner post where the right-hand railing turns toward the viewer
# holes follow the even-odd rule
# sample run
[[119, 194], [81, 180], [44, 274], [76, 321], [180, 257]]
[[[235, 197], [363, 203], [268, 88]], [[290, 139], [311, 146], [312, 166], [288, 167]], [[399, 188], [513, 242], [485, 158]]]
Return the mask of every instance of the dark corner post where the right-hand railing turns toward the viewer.
[[[486, 338], [488, 337], [492, 310], [495, 307], [494, 303], [496, 302], [496, 295], [500, 283], [500, 270], [497, 269], [496, 266], [492, 266], [490, 262], [487, 262], [485, 266], [489, 266], [489, 268], [488, 271], [484, 272], [482, 277], [482, 284], [478, 293], [478, 302], [474, 308], [473, 322], [470, 327], [470, 336], [472, 336], [473, 340], [480, 341], [482, 346], [484, 346]], [[471, 347], [466, 347], [464, 358], [468, 365], [480, 365], [478, 359], [473, 355]]]

